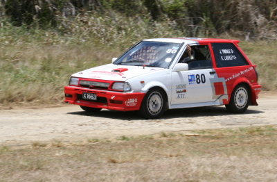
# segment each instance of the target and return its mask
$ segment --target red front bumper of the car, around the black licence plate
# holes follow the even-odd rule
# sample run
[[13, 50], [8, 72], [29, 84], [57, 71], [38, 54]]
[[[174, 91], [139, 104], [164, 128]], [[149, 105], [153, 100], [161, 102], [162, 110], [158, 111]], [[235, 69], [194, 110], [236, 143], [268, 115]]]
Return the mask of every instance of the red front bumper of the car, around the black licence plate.
[[[96, 94], [96, 101], [88, 101], [82, 99], [82, 92]], [[106, 90], [93, 90], [87, 88], [79, 88], [73, 86], [64, 87], [65, 99], [64, 102], [69, 104], [77, 104], [91, 108], [106, 108], [109, 110], [139, 110], [145, 96], [143, 92], [124, 93], [111, 92]]]

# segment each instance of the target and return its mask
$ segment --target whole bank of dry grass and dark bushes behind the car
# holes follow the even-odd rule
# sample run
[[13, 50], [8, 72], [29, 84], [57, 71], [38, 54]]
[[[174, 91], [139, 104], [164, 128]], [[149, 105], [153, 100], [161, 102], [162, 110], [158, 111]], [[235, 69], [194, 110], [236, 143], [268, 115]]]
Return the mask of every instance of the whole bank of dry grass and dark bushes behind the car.
[[62, 102], [73, 72], [166, 37], [242, 40], [277, 88], [276, 0], [0, 0], [0, 104]]

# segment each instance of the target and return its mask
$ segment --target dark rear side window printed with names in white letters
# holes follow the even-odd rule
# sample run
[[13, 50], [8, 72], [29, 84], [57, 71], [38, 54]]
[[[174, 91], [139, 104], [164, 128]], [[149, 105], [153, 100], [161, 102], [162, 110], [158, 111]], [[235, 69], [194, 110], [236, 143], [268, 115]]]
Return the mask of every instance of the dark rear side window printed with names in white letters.
[[249, 65], [232, 43], [213, 43], [217, 67], [235, 67]]

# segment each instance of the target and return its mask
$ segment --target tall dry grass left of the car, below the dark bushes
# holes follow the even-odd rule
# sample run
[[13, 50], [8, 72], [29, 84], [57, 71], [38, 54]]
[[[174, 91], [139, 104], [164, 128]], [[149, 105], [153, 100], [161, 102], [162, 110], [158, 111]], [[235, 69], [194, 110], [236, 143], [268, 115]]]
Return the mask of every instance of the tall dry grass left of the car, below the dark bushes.
[[2, 22], [0, 104], [62, 103], [63, 87], [74, 72], [111, 63], [112, 57], [143, 38], [180, 35], [170, 31], [170, 22], [118, 16], [116, 22], [109, 17], [64, 19], [64, 28], [71, 28], [63, 35], [54, 29], [28, 29]]

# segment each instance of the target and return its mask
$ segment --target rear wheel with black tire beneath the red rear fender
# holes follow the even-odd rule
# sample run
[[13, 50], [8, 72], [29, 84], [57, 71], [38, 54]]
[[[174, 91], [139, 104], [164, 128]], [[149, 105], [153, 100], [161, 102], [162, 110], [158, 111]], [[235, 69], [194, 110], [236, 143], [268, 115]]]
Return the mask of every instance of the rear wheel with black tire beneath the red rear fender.
[[230, 113], [244, 113], [249, 106], [249, 88], [247, 85], [240, 84], [233, 90], [229, 104], [226, 104], [226, 110]]

